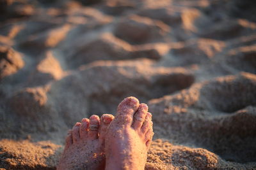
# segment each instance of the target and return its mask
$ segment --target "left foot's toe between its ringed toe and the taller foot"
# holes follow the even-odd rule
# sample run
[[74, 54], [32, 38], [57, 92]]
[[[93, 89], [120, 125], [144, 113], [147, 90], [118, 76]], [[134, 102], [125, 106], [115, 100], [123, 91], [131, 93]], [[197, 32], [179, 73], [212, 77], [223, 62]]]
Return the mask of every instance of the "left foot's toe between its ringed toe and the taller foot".
[[108, 129], [109, 124], [115, 117], [110, 114], [104, 114], [100, 117], [100, 129], [99, 129], [99, 139], [102, 140], [105, 138], [106, 131]]

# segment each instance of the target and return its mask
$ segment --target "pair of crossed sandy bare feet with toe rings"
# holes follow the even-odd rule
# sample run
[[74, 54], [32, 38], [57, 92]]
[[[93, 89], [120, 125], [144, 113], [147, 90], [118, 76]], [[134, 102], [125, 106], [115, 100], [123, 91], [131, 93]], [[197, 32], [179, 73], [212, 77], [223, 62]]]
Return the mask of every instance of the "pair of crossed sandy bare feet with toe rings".
[[57, 169], [144, 169], [154, 135], [151, 117], [147, 104], [127, 97], [115, 118], [83, 118], [68, 133]]

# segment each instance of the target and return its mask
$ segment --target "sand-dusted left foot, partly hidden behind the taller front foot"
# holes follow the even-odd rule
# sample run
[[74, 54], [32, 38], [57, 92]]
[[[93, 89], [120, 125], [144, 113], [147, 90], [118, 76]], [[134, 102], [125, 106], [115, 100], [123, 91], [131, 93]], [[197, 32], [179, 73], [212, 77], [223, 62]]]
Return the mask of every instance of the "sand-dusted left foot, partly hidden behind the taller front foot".
[[106, 131], [114, 116], [92, 115], [83, 118], [68, 132], [65, 149], [57, 169], [104, 169], [104, 141]]

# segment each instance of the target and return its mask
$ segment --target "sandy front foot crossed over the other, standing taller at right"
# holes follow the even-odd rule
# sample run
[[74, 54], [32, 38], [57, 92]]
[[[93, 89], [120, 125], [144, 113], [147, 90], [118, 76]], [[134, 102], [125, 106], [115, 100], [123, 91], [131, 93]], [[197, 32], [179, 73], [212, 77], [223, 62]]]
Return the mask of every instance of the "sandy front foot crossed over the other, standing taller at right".
[[145, 169], [154, 135], [147, 104], [127, 97], [118, 105], [105, 139], [106, 169]]

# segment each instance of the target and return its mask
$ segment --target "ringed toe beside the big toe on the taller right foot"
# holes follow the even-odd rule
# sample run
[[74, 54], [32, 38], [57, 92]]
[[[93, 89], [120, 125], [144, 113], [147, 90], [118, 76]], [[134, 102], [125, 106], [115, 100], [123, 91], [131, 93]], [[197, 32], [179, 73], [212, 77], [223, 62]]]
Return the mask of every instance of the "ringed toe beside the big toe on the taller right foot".
[[143, 122], [147, 121], [147, 120], [145, 120], [145, 117], [147, 116], [147, 112], [148, 112], [147, 104], [141, 103], [133, 117], [132, 127], [134, 129], [136, 129], [136, 130], [140, 129]]

